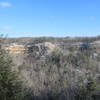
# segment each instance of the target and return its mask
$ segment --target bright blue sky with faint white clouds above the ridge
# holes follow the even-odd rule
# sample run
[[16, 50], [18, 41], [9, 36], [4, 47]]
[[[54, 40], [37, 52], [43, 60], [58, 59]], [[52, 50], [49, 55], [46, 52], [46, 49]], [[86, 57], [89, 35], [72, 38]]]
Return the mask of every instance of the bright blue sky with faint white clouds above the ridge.
[[0, 0], [8, 37], [100, 35], [100, 0]]

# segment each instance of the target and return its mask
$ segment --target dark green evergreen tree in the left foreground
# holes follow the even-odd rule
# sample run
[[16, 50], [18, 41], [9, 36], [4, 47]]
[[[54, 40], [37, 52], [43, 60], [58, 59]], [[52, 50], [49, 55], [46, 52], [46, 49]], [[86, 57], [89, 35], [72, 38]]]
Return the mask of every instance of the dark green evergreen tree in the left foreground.
[[21, 81], [12, 66], [12, 60], [0, 48], [0, 100], [22, 100]]

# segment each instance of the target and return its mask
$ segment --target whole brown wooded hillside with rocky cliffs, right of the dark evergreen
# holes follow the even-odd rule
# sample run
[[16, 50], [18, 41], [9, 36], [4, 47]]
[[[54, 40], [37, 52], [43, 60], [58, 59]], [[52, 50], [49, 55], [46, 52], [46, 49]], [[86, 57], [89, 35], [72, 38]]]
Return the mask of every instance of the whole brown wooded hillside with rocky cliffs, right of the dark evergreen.
[[100, 37], [9, 38], [2, 47], [30, 100], [100, 100]]

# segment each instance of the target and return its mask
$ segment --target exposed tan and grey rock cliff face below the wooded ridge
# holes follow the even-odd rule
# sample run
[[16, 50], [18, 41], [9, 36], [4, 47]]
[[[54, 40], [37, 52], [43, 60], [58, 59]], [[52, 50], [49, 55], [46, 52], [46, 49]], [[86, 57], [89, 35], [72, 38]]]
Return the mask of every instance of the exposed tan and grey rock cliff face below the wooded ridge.
[[[46, 52], [50, 53], [54, 51], [56, 48], [56, 45], [50, 43], [50, 42], [45, 42], [45, 43], [38, 43], [38, 44], [18, 44], [18, 43], [11, 43], [8, 46], [5, 47], [5, 50], [12, 54], [12, 55], [17, 55], [17, 54], [23, 54], [26, 52], [43, 52], [43, 50], [47, 50]], [[44, 51], [45, 52], [45, 51]]]

